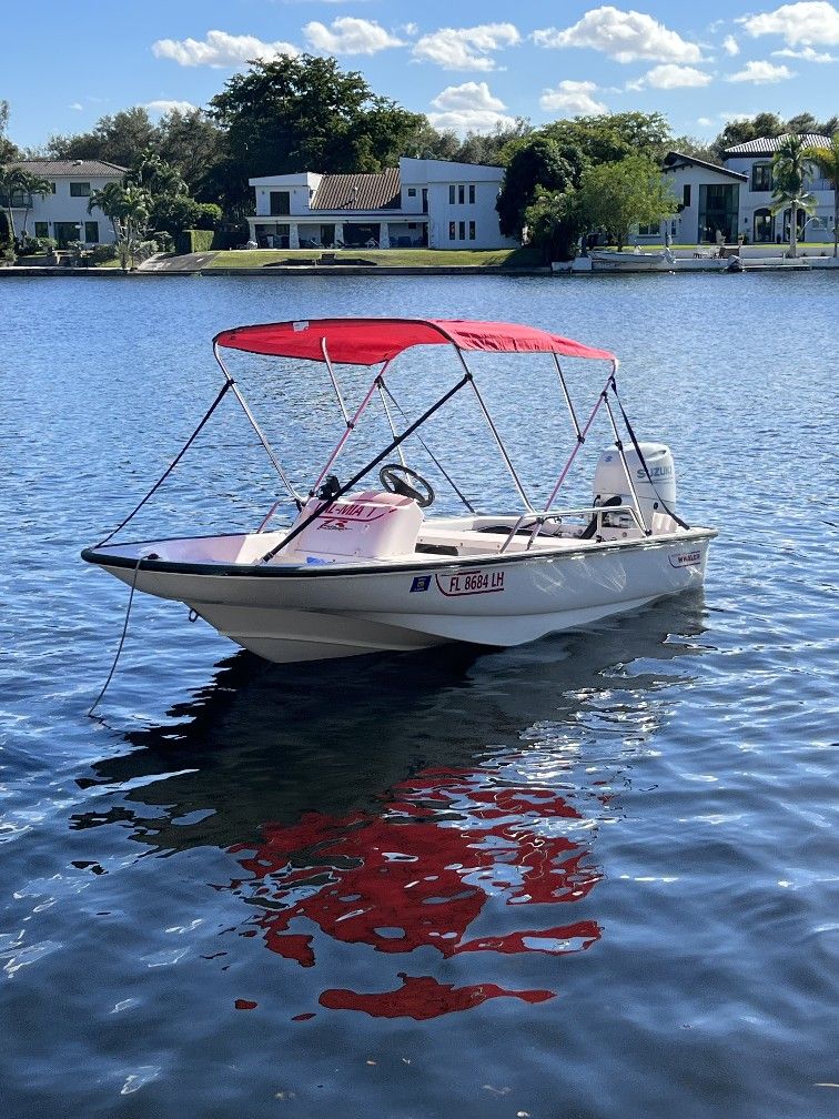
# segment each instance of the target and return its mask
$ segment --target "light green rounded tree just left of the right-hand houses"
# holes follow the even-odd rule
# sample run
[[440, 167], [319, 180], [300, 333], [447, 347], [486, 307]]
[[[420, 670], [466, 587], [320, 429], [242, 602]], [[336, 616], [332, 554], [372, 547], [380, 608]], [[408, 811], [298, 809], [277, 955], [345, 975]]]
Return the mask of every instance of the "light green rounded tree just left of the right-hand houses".
[[583, 172], [579, 206], [585, 227], [607, 229], [620, 250], [637, 222], [669, 217], [676, 213], [677, 199], [662, 182], [657, 161], [629, 156]]

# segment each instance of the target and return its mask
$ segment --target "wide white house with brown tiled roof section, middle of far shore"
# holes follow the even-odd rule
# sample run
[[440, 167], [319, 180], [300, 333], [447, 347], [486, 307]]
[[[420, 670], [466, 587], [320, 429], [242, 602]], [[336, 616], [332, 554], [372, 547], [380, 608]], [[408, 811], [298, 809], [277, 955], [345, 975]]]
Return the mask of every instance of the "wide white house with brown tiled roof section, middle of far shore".
[[251, 237], [261, 247], [513, 248], [496, 199], [503, 169], [400, 159], [378, 175], [299, 171], [248, 180]]

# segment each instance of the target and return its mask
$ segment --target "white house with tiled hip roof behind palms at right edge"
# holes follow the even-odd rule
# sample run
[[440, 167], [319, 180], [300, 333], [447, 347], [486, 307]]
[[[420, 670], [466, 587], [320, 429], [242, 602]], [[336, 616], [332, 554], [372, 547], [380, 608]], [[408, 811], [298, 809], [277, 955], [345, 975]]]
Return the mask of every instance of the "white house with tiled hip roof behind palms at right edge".
[[[745, 234], [753, 244], [790, 239], [790, 210], [775, 216], [772, 214], [772, 157], [784, 139], [762, 137], [760, 140], [750, 140], [748, 143], [726, 148], [723, 157], [727, 169], [739, 171], [746, 178], [739, 196], [738, 233]], [[801, 139], [808, 148], [830, 144], [827, 137], [803, 135]], [[816, 209], [811, 214], [799, 210], [799, 241], [808, 244], [832, 243], [833, 188], [827, 179], [820, 177], [818, 169], [808, 178], [804, 188], [814, 196]]]

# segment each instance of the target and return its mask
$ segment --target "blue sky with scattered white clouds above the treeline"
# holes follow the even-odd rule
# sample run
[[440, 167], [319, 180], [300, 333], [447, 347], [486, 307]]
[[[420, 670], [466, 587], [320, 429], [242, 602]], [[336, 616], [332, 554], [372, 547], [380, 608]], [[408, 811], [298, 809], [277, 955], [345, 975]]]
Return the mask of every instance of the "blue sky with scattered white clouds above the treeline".
[[761, 110], [839, 110], [839, 8], [824, 0], [40, 0], [9, 3], [2, 26], [20, 144], [130, 105], [205, 105], [244, 59], [303, 50], [459, 132], [637, 109], [710, 138]]

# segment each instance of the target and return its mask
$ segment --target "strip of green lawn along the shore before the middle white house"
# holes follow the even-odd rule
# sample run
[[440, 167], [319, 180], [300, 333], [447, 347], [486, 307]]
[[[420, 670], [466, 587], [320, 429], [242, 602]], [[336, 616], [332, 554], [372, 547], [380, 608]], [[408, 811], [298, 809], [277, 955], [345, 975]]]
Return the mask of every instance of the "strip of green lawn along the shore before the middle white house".
[[[286, 263], [314, 262], [324, 250], [310, 248], [237, 248], [216, 253], [206, 264], [207, 269], [260, 269]], [[326, 250], [332, 254], [332, 250]], [[445, 250], [445, 248], [338, 248], [333, 252], [338, 263], [365, 262], [392, 267], [447, 267], [459, 265], [474, 267], [532, 267], [543, 261], [529, 247], [492, 250]], [[324, 264], [323, 267], [329, 267]]]

